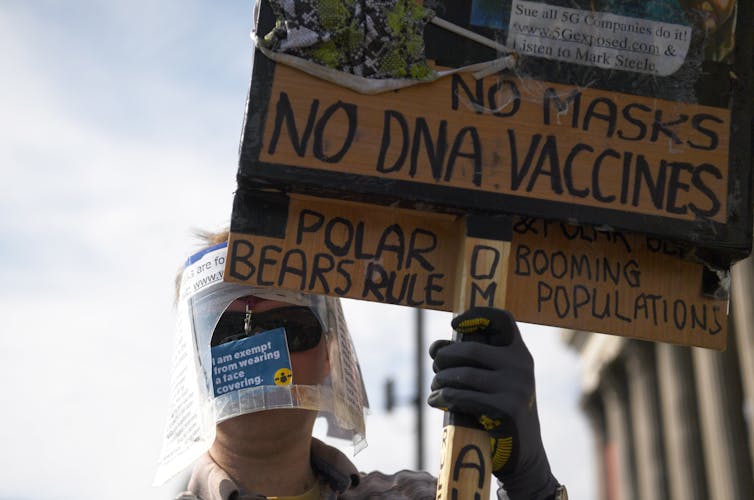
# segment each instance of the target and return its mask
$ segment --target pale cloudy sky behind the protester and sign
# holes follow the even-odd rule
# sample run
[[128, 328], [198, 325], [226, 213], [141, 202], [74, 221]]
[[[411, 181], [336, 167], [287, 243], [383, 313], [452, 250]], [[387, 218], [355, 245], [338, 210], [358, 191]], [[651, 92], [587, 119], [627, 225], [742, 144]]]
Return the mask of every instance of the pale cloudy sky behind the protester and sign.
[[[252, 11], [237, 0], [0, 0], [0, 499], [169, 499], [185, 482], [151, 486], [173, 280], [193, 232], [230, 217]], [[344, 308], [372, 403], [354, 461], [413, 468], [415, 313]], [[450, 336], [449, 313], [426, 318], [427, 344]], [[573, 498], [595, 498], [577, 355], [554, 329], [521, 328], [552, 469]], [[390, 414], [387, 378], [400, 404]], [[425, 418], [436, 473], [442, 416]]]

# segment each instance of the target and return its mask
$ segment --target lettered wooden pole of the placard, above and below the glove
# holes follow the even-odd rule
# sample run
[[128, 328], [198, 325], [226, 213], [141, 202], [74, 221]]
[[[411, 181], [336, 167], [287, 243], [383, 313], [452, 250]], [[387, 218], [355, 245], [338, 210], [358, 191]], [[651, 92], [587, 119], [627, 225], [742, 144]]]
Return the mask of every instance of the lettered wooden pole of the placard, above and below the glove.
[[[511, 220], [470, 214], [465, 222], [453, 310], [459, 314], [474, 306], [504, 309]], [[453, 338], [463, 341], [458, 333]], [[446, 413], [440, 453], [437, 500], [490, 497], [490, 438], [476, 418]]]

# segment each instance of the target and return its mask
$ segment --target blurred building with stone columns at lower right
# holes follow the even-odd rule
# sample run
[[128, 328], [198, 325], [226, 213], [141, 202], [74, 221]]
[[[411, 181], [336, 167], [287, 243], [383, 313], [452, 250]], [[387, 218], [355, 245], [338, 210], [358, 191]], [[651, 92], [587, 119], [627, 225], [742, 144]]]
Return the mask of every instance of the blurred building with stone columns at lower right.
[[569, 332], [598, 498], [754, 499], [754, 261], [731, 270], [727, 349]]

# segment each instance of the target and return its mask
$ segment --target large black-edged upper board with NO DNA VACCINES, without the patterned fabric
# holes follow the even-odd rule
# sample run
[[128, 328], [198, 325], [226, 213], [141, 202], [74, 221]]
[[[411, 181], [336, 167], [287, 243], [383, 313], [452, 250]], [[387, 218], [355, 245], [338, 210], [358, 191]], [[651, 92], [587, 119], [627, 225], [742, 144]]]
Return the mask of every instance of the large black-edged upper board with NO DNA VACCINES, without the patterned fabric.
[[[367, 96], [257, 52], [239, 186], [647, 233], [721, 269], [747, 255], [752, 44], [733, 16], [752, 9], [724, 9], [711, 36], [694, 2], [561, 3], [433, 2], [515, 51], [482, 79]], [[498, 56], [433, 25], [425, 43], [438, 67]]]

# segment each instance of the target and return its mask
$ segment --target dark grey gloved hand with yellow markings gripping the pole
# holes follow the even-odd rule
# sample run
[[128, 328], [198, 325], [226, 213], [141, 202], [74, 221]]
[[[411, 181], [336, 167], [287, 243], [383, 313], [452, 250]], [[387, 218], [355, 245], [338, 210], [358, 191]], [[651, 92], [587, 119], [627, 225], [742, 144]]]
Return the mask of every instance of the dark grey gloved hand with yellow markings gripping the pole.
[[451, 326], [466, 341], [430, 346], [435, 378], [428, 403], [474, 415], [487, 429], [493, 473], [511, 500], [551, 497], [558, 481], [542, 445], [534, 362], [516, 322], [508, 311], [475, 307]]

